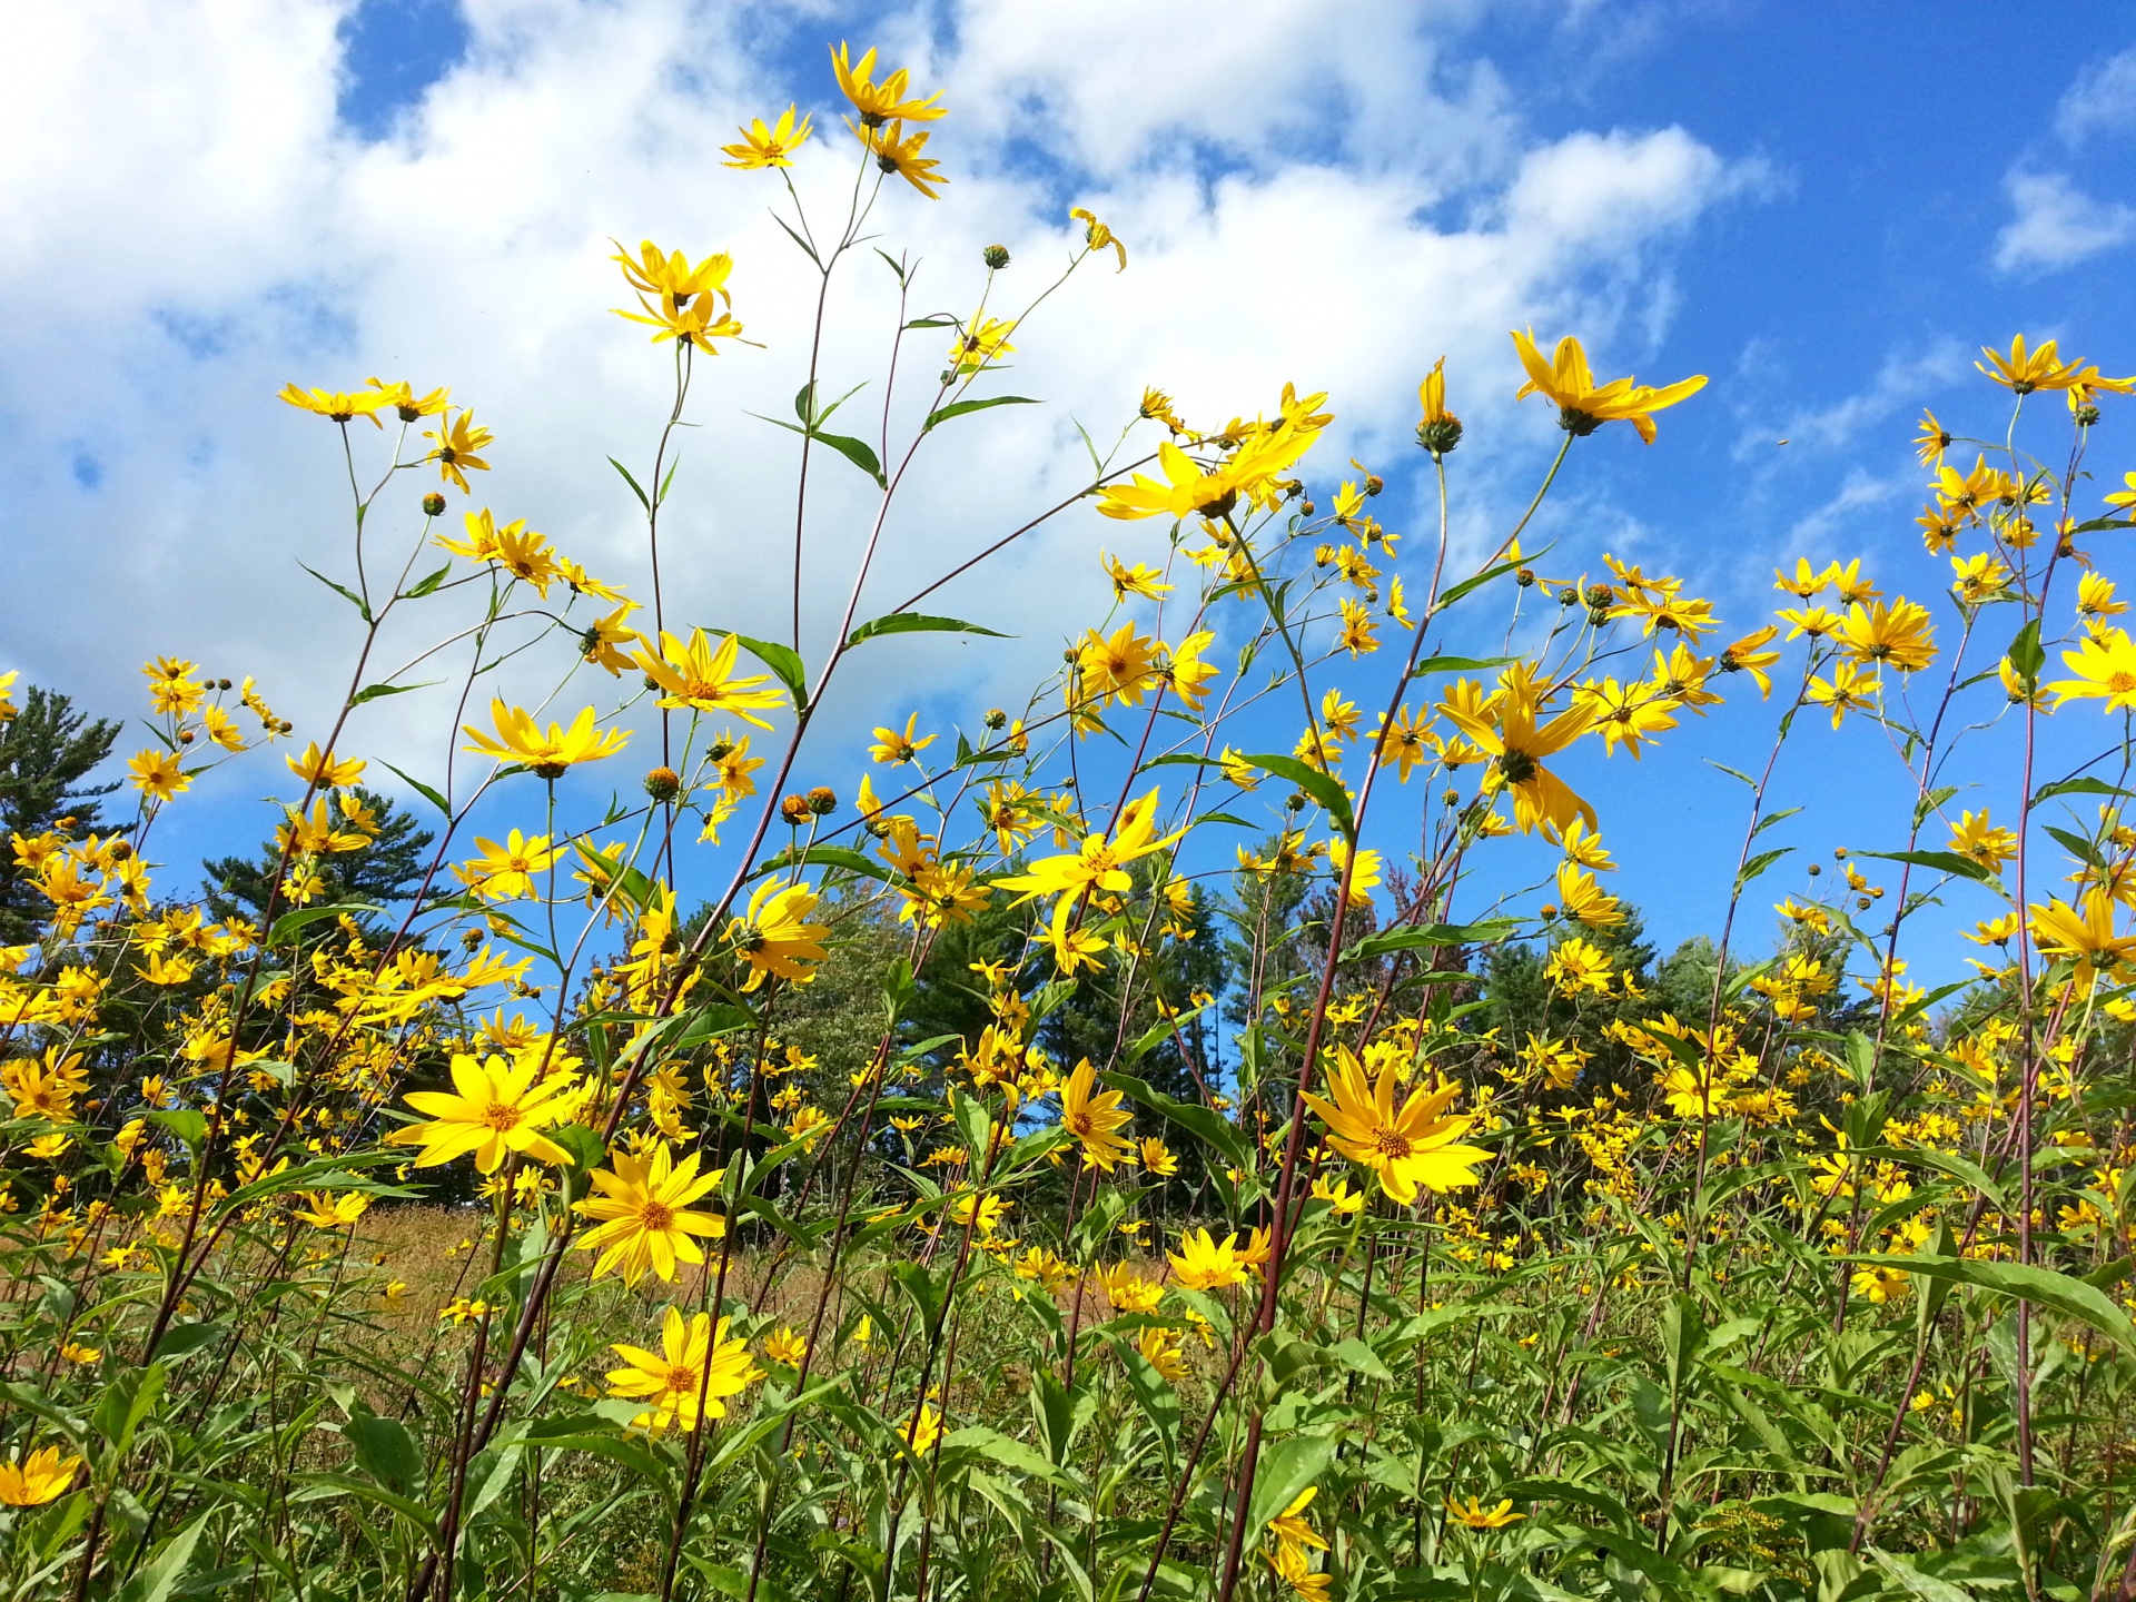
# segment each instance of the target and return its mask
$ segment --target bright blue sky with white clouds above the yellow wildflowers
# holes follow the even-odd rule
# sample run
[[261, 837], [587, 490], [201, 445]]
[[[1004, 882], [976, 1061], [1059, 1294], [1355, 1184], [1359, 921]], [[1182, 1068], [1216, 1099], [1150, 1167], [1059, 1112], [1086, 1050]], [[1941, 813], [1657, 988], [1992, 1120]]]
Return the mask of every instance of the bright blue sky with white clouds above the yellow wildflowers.
[[[938, 147], [959, 184], [940, 207], [893, 207], [893, 231], [942, 263], [980, 235], [1027, 258], [1066, 239], [1068, 203], [1102, 199], [1128, 237], [1132, 269], [1077, 284], [1042, 331], [1053, 350], [1032, 348], [1019, 374], [1057, 410], [1098, 417], [1164, 382], [1192, 417], [1254, 412], [1282, 378], [1333, 384], [1344, 434], [1316, 472], [1365, 453], [1391, 478], [1382, 519], [1414, 530], [1403, 434], [1416, 378], [1448, 350], [1472, 421], [1457, 483], [1482, 536], [1555, 444], [1536, 404], [1510, 406], [1508, 323], [1579, 331], [1606, 372], [1709, 374], [1653, 449], [1625, 429], [1581, 442], [1546, 530], [1572, 568], [1600, 568], [1608, 547], [1681, 572], [1728, 637], [1762, 622], [1771, 570], [1794, 555], [1860, 555], [1886, 592], [1925, 600], [1948, 583], [1912, 530], [1907, 438], [1922, 404], [1999, 429], [2001, 395], [1972, 367], [1982, 342], [2061, 335], [2136, 372], [2136, 23], [2104, 6], [2053, 28], [1986, 6], [1837, 4], [1262, 0], [1070, 17], [995, 0], [365, 0], [261, 4], [246, 26], [224, 9], [192, 28], [171, 11], [169, 36], [109, 53], [41, 19], [41, 81], [15, 85], [15, 105], [49, 143], [17, 141], [0, 164], [0, 201], [32, 224], [0, 263], [0, 538], [30, 577], [0, 598], [0, 671], [98, 709], [139, 696], [130, 662], [156, 649], [258, 671], [299, 722], [327, 698], [346, 619], [293, 560], [335, 549], [316, 511], [333, 464], [271, 402], [288, 378], [393, 367], [459, 384], [517, 446], [481, 485], [500, 513], [534, 517], [596, 570], [596, 555], [626, 562], [628, 506], [594, 468], [641, 451], [658, 376], [602, 323], [600, 239], [733, 244], [737, 297], [754, 297], [771, 352], [722, 367], [741, 393], [720, 408], [790, 393], [765, 197], [735, 188], [709, 145], [788, 96], [829, 111], [822, 47], [842, 36], [882, 41], [951, 90]], [[203, 96], [190, 117], [186, 94]], [[77, 103], [109, 115], [68, 145]], [[98, 222], [145, 263], [143, 282], [100, 299], [79, 282]], [[948, 284], [968, 271], [942, 273], [951, 299], [965, 293]], [[756, 449], [718, 440], [722, 461]], [[989, 440], [998, 493], [944, 476], [923, 487], [927, 517], [978, 525], [1057, 472], [1059, 438], [1036, 419]], [[1047, 466], [1004, 466], [1015, 449]], [[2108, 410], [2093, 464], [2115, 478], [2136, 466], [2123, 412]], [[748, 498], [688, 513], [707, 624], [771, 600], [737, 562], [756, 530], [731, 500]], [[1102, 538], [1121, 549], [1083, 519], [957, 596], [1023, 641], [991, 666], [886, 658], [925, 688], [929, 722], [970, 724], [1087, 622]], [[2117, 549], [2095, 555], [2123, 566]], [[53, 622], [68, 607], [98, 607], [100, 628]], [[421, 767], [423, 709], [399, 701], [380, 703], [374, 750]], [[886, 711], [839, 707], [820, 775], [850, 788], [857, 741]], [[1741, 839], [1739, 788], [1702, 758], [1756, 767], [1771, 739], [1756, 705], [1707, 724], [1636, 767], [1593, 752], [1572, 773], [1625, 867], [1617, 889], [1664, 948], [1717, 921]], [[2006, 748], [1989, 739], [1976, 767], [1993, 778]], [[160, 824], [171, 857], [256, 835], [271, 788], [258, 769], [218, 775]], [[1873, 731], [1805, 731], [1779, 788], [1818, 801], [1775, 831], [1805, 854], [1901, 844], [1905, 784]], [[1766, 884], [1760, 910], [1794, 886], [1784, 869]]]

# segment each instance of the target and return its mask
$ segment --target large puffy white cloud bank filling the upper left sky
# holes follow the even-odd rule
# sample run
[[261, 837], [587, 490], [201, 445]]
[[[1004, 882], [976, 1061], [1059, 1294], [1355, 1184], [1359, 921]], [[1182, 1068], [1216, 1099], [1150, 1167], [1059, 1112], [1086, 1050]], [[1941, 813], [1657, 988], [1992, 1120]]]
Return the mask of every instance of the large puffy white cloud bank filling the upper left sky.
[[[139, 694], [132, 662], [179, 651], [256, 673], [301, 724], [331, 707], [352, 615], [297, 562], [346, 572], [348, 517], [333, 429], [273, 399], [293, 378], [451, 382], [498, 431], [474, 504], [528, 517], [645, 598], [637, 506], [602, 457], [649, 457], [666, 365], [607, 312], [624, 303], [609, 235], [735, 252], [737, 312], [767, 348], [698, 365], [703, 427], [684, 438], [662, 547], [669, 615], [784, 632], [765, 619], [788, 604], [795, 442], [745, 412], [790, 410], [814, 278], [767, 216], [780, 186], [718, 167], [735, 122], [775, 109], [752, 88], [769, 70], [752, 17], [684, 0], [470, 0], [468, 60], [393, 141], [363, 145], [333, 124], [340, 11], [103, 0], [17, 30], [0, 66], [0, 666], [120, 709]], [[1333, 389], [1326, 474], [1350, 451], [1405, 449], [1416, 380], [1444, 350], [1472, 423], [1465, 459], [1489, 470], [1493, 451], [1549, 431], [1536, 408], [1512, 412], [1504, 331], [1576, 327], [1598, 363], [1630, 365], [1623, 346], [1653, 337], [1643, 318], [1672, 241], [1756, 179], [1681, 128], [1523, 139], [1487, 64], [1420, 43], [1420, 19], [1461, 6], [1265, 0], [1226, 4], [1211, 28], [1203, 6], [1145, 0], [1132, 15], [1149, 28], [1094, 21], [1126, 11], [970, 0], [951, 45], [929, 38], [927, 11], [884, 21], [880, 38], [910, 51], [897, 60], [925, 62], [916, 81], [953, 85], [936, 137], [948, 197], [882, 199], [880, 244], [923, 258], [914, 312], [970, 310], [989, 241], [1017, 258], [1004, 293], [1034, 293], [1070, 244], [1062, 173], [1087, 177], [1074, 199], [1113, 222], [1132, 265], [1094, 263], [1019, 335], [1008, 382], [1045, 406], [959, 421], [918, 457], [861, 615], [1072, 493], [1070, 419], [1109, 436], [1145, 382], [1196, 419], [1265, 410], [1284, 380]], [[1130, 36], [1168, 70], [1121, 56]], [[829, 90], [824, 73], [820, 137], [795, 169], [818, 214], [852, 173]], [[1371, 132], [1391, 117], [1397, 132]], [[1303, 139], [1322, 126], [1335, 137]], [[1053, 171], [1017, 154], [1034, 139]], [[1215, 171], [1211, 150], [1232, 169]], [[1429, 222], [1448, 197], [1467, 197], [1465, 220]], [[880, 374], [895, 284], [861, 252], [831, 305], [824, 378], [842, 391]], [[899, 417], [910, 427], [940, 337], [908, 335], [893, 434]], [[848, 417], [871, 417], [878, 397], [863, 391]], [[378, 444], [359, 429], [359, 449]], [[874, 498], [839, 461], [816, 483], [805, 637], [820, 647]], [[374, 557], [412, 538], [421, 487], [389, 491]], [[1096, 604], [1100, 543], [1147, 557], [1158, 534], [1066, 515], [940, 598], [1017, 645], [886, 645], [871, 681], [899, 675], [959, 705], [1027, 684]], [[412, 654], [431, 628], [391, 645]], [[508, 684], [543, 694], [540, 673], [553, 686], [562, 666], [555, 647]], [[604, 696], [602, 684], [570, 696]], [[357, 743], [436, 773], [446, 711], [434, 696], [380, 701], [359, 713]]]

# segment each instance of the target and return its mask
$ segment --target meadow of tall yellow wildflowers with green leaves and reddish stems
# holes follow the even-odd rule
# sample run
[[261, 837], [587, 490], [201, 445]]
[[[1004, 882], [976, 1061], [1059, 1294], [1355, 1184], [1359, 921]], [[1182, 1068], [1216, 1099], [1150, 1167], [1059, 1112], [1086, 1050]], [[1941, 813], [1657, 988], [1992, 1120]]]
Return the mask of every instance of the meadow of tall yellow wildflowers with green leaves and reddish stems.
[[[942, 96], [833, 77], [850, 190], [795, 188], [846, 137], [795, 109], [720, 175], [824, 286], [767, 357], [790, 617], [664, 604], [748, 305], [643, 241], [617, 337], [666, 425], [587, 468], [634, 572], [485, 504], [511, 440], [468, 397], [293, 382], [346, 498], [337, 716], [156, 658], [98, 788], [117, 726], [0, 677], [6, 1593], [2136, 1598], [2136, 472], [2087, 457], [2136, 380], [1982, 348], [1918, 429], [1918, 598], [1833, 551], [1728, 628], [1540, 545], [1583, 442], [1666, 451], [1705, 378], [1523, 329], [1559, 438], [1482, 549], [1420, 357], [1416, 528], [1316, 453], [1341, 397], [1145, 391], [891, 604], [912, 464], [1030, 404], [1017, 344], [1134, 241], [1079, 207], [1066, 261], [989, 248], [948, 269], [970, 314], [921, 312], [891, 235], [957, 203]], [[867, 389], [818, 370], [857, 273], [895, 284]], [[874, 498], [850, 570], [810, 543], [833, 474]], [[985, 649], [938, 592], [1091, 513], [1162, 562], [1094, 540], [1057, 669], [923, 726], [884, 641]], [[810, 784], [854, 679], [882, 724]], [[440, 686], [427, 780], [365, 750]], [[1728, 769], [1722, 927], [1664, 957], [1566, 754], [1696, 743], [1724, 698], [1771, 748]], [[1912, 805], [1811, 861], [1773, 775], [1850, 724]], [[286, 801], [192, 889], [156, 824], [226, 763]], [[1997, 908], [1963, 965], [1925, 916], [1959, 893]]]

